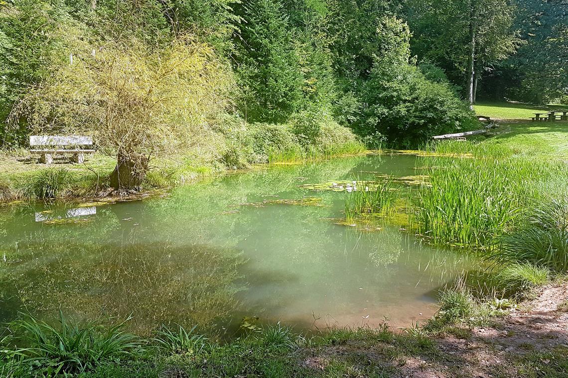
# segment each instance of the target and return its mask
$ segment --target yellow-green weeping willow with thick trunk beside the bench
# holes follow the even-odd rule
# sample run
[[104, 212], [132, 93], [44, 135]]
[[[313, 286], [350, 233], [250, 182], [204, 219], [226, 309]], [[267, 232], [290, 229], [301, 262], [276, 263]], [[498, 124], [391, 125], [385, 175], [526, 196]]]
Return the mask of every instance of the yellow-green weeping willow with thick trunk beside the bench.
[[160, 50], [76, 38], [65, 53], [11, 120], [24, 119], [34, 133], [92, 136], [116, 155], [115, 189], [140, 189], [151, 158], [211, 139], [211, 123], [233, 105], [230, 67], [191, 36]]

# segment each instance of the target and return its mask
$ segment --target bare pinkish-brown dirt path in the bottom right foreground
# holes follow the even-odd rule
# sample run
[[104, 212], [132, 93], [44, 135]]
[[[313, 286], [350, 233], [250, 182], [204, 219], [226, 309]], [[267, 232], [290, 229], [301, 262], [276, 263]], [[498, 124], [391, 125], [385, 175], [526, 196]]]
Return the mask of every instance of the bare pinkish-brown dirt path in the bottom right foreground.
[[460, 337], [349, 339], [308, 350], [302, 364], [315, 372], [348, 364], [349, 377], [360, 378], [377, 376], [371, 371], [393, 378], [568, 378], [568, 283], [543, 288], [491, 327], [453, 333]]

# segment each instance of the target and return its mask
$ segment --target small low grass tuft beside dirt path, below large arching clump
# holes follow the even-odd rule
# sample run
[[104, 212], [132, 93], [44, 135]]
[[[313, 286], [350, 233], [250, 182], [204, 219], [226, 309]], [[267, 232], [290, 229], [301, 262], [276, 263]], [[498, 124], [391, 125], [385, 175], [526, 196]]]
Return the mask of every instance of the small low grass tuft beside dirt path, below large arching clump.
[[495, 274], [495, 286], [503, 295], [526, 296], [534, 287], [549, 282], [551, 271], [548, 267], [532, 264], [508, 264]]

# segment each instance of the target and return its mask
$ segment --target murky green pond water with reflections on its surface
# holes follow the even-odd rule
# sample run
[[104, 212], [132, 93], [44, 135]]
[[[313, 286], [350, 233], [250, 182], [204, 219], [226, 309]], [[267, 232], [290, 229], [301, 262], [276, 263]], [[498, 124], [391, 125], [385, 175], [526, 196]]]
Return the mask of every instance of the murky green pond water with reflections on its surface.
[[[384, 318], [410, 326], [435, 312], [437, 288], [476, 262], [421, 244], [400, 224], [336, 224], [345, 193], [300, 185], [417, 175], [419, 165], [416, 156], [356, 156], [232, 173], [165, 198], [1, 206], [0, 321], [61, 308], [101, 322], [132, 314], [139, 334], [174, 322], [230, 334], [245, 317], [299, 329]], [[270, 203], [305, 197], [321, 202]], [[49, 224], [57, 219], [78, 222]]]

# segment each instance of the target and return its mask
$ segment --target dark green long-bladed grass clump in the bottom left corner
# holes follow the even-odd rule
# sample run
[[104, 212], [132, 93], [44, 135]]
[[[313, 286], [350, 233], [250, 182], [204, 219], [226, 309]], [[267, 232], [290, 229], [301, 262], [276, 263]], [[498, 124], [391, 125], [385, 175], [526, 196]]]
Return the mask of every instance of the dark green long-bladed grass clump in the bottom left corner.
[[40, 375], [89, 371], [105, 360], [130, 354], [140, 345], [135, 335], [123, 332], [126, 321], [110, 328], [93, 324], [80, 327], [61, 311], [57, 320], [58, 328], [32, 316], [9, 325], [19, 334], [16, 341], [26, 346], [19, 350], [24, 356], [21, 363]]

